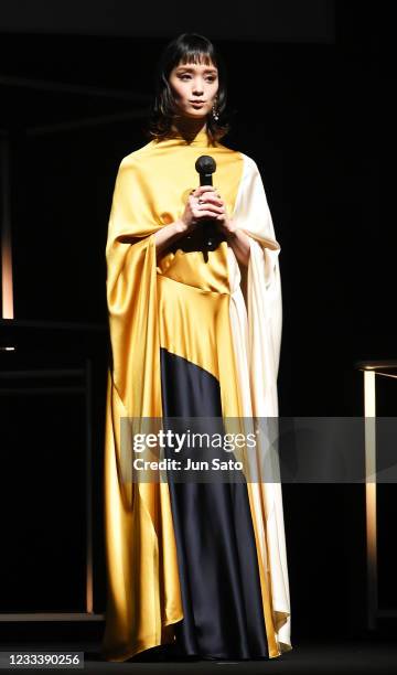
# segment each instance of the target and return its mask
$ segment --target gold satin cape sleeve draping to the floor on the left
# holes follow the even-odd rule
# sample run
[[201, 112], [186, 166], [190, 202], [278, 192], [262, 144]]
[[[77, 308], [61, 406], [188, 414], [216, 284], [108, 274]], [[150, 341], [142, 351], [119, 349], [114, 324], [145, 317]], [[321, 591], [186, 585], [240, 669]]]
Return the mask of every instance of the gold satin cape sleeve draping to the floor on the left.
[[133, 482], [122, 418], [161, 417], [155, 218], [131, 153], [119, 167], [110, 211], [107, 303], [111, 345], [105, 429], [106, 628], [103, 655], [126, 661], [173, 641], [183, 618], [167, 482]]

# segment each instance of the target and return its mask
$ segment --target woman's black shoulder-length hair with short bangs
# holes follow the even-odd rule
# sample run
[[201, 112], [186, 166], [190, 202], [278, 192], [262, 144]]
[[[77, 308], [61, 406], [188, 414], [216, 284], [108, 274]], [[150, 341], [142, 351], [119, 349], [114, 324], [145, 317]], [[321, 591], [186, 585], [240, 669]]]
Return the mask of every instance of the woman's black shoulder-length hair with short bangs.
[[161, 54], [157, 67], [155, 96], [150, 109], [147, 136], [158, 141], [171, 136], [171, 125], [176, 114], [176, 107], [169, 84], [169, 76], [171, 71], [180, 63], [213, 64], [217, 68], [219, 86], [216, 94], [216, 111], [218, 119], [215, 120], [212, 113], [207, 115], [206, 119], [208, 138], [214, 143], [229, 131], [229, 124], [225, 119], [226, 67], [213, 43], [197, 33], [182, 33], [172, 40]]

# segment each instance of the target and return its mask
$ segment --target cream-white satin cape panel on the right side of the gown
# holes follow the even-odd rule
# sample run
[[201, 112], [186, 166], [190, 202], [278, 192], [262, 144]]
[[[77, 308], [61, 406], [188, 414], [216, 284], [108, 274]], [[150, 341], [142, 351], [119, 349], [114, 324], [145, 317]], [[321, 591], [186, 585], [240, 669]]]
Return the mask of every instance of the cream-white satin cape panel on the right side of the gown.
[[[277, 418], [282, 326], [280, 245], [259, 170], [246, 154], [233, 218], [249, 235], [250, 243], [248, 268], [240, 266], [228, 248], [230, 323], [244, 416]], [[272, 419], [272, 428], [275, 422]], [[291, 649], [291, 617], [277, 447], [276, 451], [275, 444], [270, 450], [261, 448], [259, 459], [254, 453], [248, 461], [251, 478], [247, 480], [253, 483], [255, 517], [261, 529], [260, 555], [270, 575], [275, 629], [280, 652], [285, 652]]]

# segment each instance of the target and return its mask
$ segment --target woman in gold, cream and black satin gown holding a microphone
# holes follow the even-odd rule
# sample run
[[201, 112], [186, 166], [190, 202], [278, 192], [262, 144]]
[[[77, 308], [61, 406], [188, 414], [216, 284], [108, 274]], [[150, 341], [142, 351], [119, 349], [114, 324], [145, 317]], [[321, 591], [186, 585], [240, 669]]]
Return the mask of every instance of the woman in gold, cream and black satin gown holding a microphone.
[[[258, 474], [255, 453], [240, 453], [240, 482], [139, 481], [120, 424], [278, 415], [280, 246], [255, 162], [219, 142], [225, 106], [214, 46], [180, 35], [159, 65], [152, 140], [116, 180], [106, 249], [109, 661], [160, 645], [202, 658], [291, 649], [280, 483]], [[216, 188], [197, 186], [201, 156], [215, 160]]]

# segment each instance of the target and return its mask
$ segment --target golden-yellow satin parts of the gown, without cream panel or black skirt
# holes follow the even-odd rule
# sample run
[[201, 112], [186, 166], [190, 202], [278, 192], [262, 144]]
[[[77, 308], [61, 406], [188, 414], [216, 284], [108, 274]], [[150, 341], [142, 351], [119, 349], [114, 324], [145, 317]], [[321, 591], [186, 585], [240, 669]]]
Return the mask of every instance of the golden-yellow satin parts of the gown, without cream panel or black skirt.
[[[230, 330], [226, 240], [208, 251], [207, 261], [201, 250], [178, 246], [165, 250], [157, 260], [154, 233], [182, 215], [190, 191], [198, 184], [195, 161], [201, 154], [215, 159], [214, 184], [227, 212], [233, 214], [244, 158], [221, 143], [210, 146], [205, 131], [190, 143], [181, 137], [149, 142], [122, 160], [115, 185], [106, 248], [111, 364], [104, 472], [107, 607], [103, 653], [109, 661], [126, 661], [150, 647], [174, 644], [175, 626], [182, 625], [187, 617], [187, 600], [182, 592], [186, 580], [182, 583], [182, 553], [175, 535], [175, 502], [171, 500], [167, 482], [131, 480], [124, 465], [120, 420], [161, 418], [164, 355], [168, 363], [176, 360], [178, 367], [187, 364], [189, 373], [195, 368], [193, 377], [198, 373], [213, 389], [218, 387], [223, 416], [237, 418], [244, 414]], [[260, 236], [251, 236], [260, 240]], [[170, 371], [170, 376], [175, 372]], [[249, 484], [246, 502], [253, 527], [251, 543], [259, 551], [261, 531]], [[251, 543], [248, 542], [247, 550]], [[239, 546], [244, 556], [245, 545]], [[219, 556], [223, 555], [219, 550]], [[259, 621], [266, 640], [264, 650], [265, 655], [275, 657], [281, 649], [275, 625], [271, 579], [259, 553], [255, 557], [262, 612]], [[194, 561], [191, 564], [194, 566]], [[242, 564], [239, 575], [244, 586], [243, 568]], [[244, 607], [248, 600], [243, 594], [242, 598]], [[236, 602], [240, 607], [238, 599]], [[200, 654], [201, 650], [208, 651], [200, 647], [206, 620], [200, 623], [198, 604], [189, 611], [193, 617], [189, 631], [197, 632], [192, 639], [198, 645], [192, 653]], [[249, 621], [243, 617], [242, 625], [248, 625]], [[250, 655], [249, 625], [244, 628], [244, 634], [246, 631], [248, 646], [244, 653], [248, 656], [243, 657]], [[202, 644], [210, 642], [203, 638]], [[222, 645], [215, 652], [215, 657], [227, 656]]]

